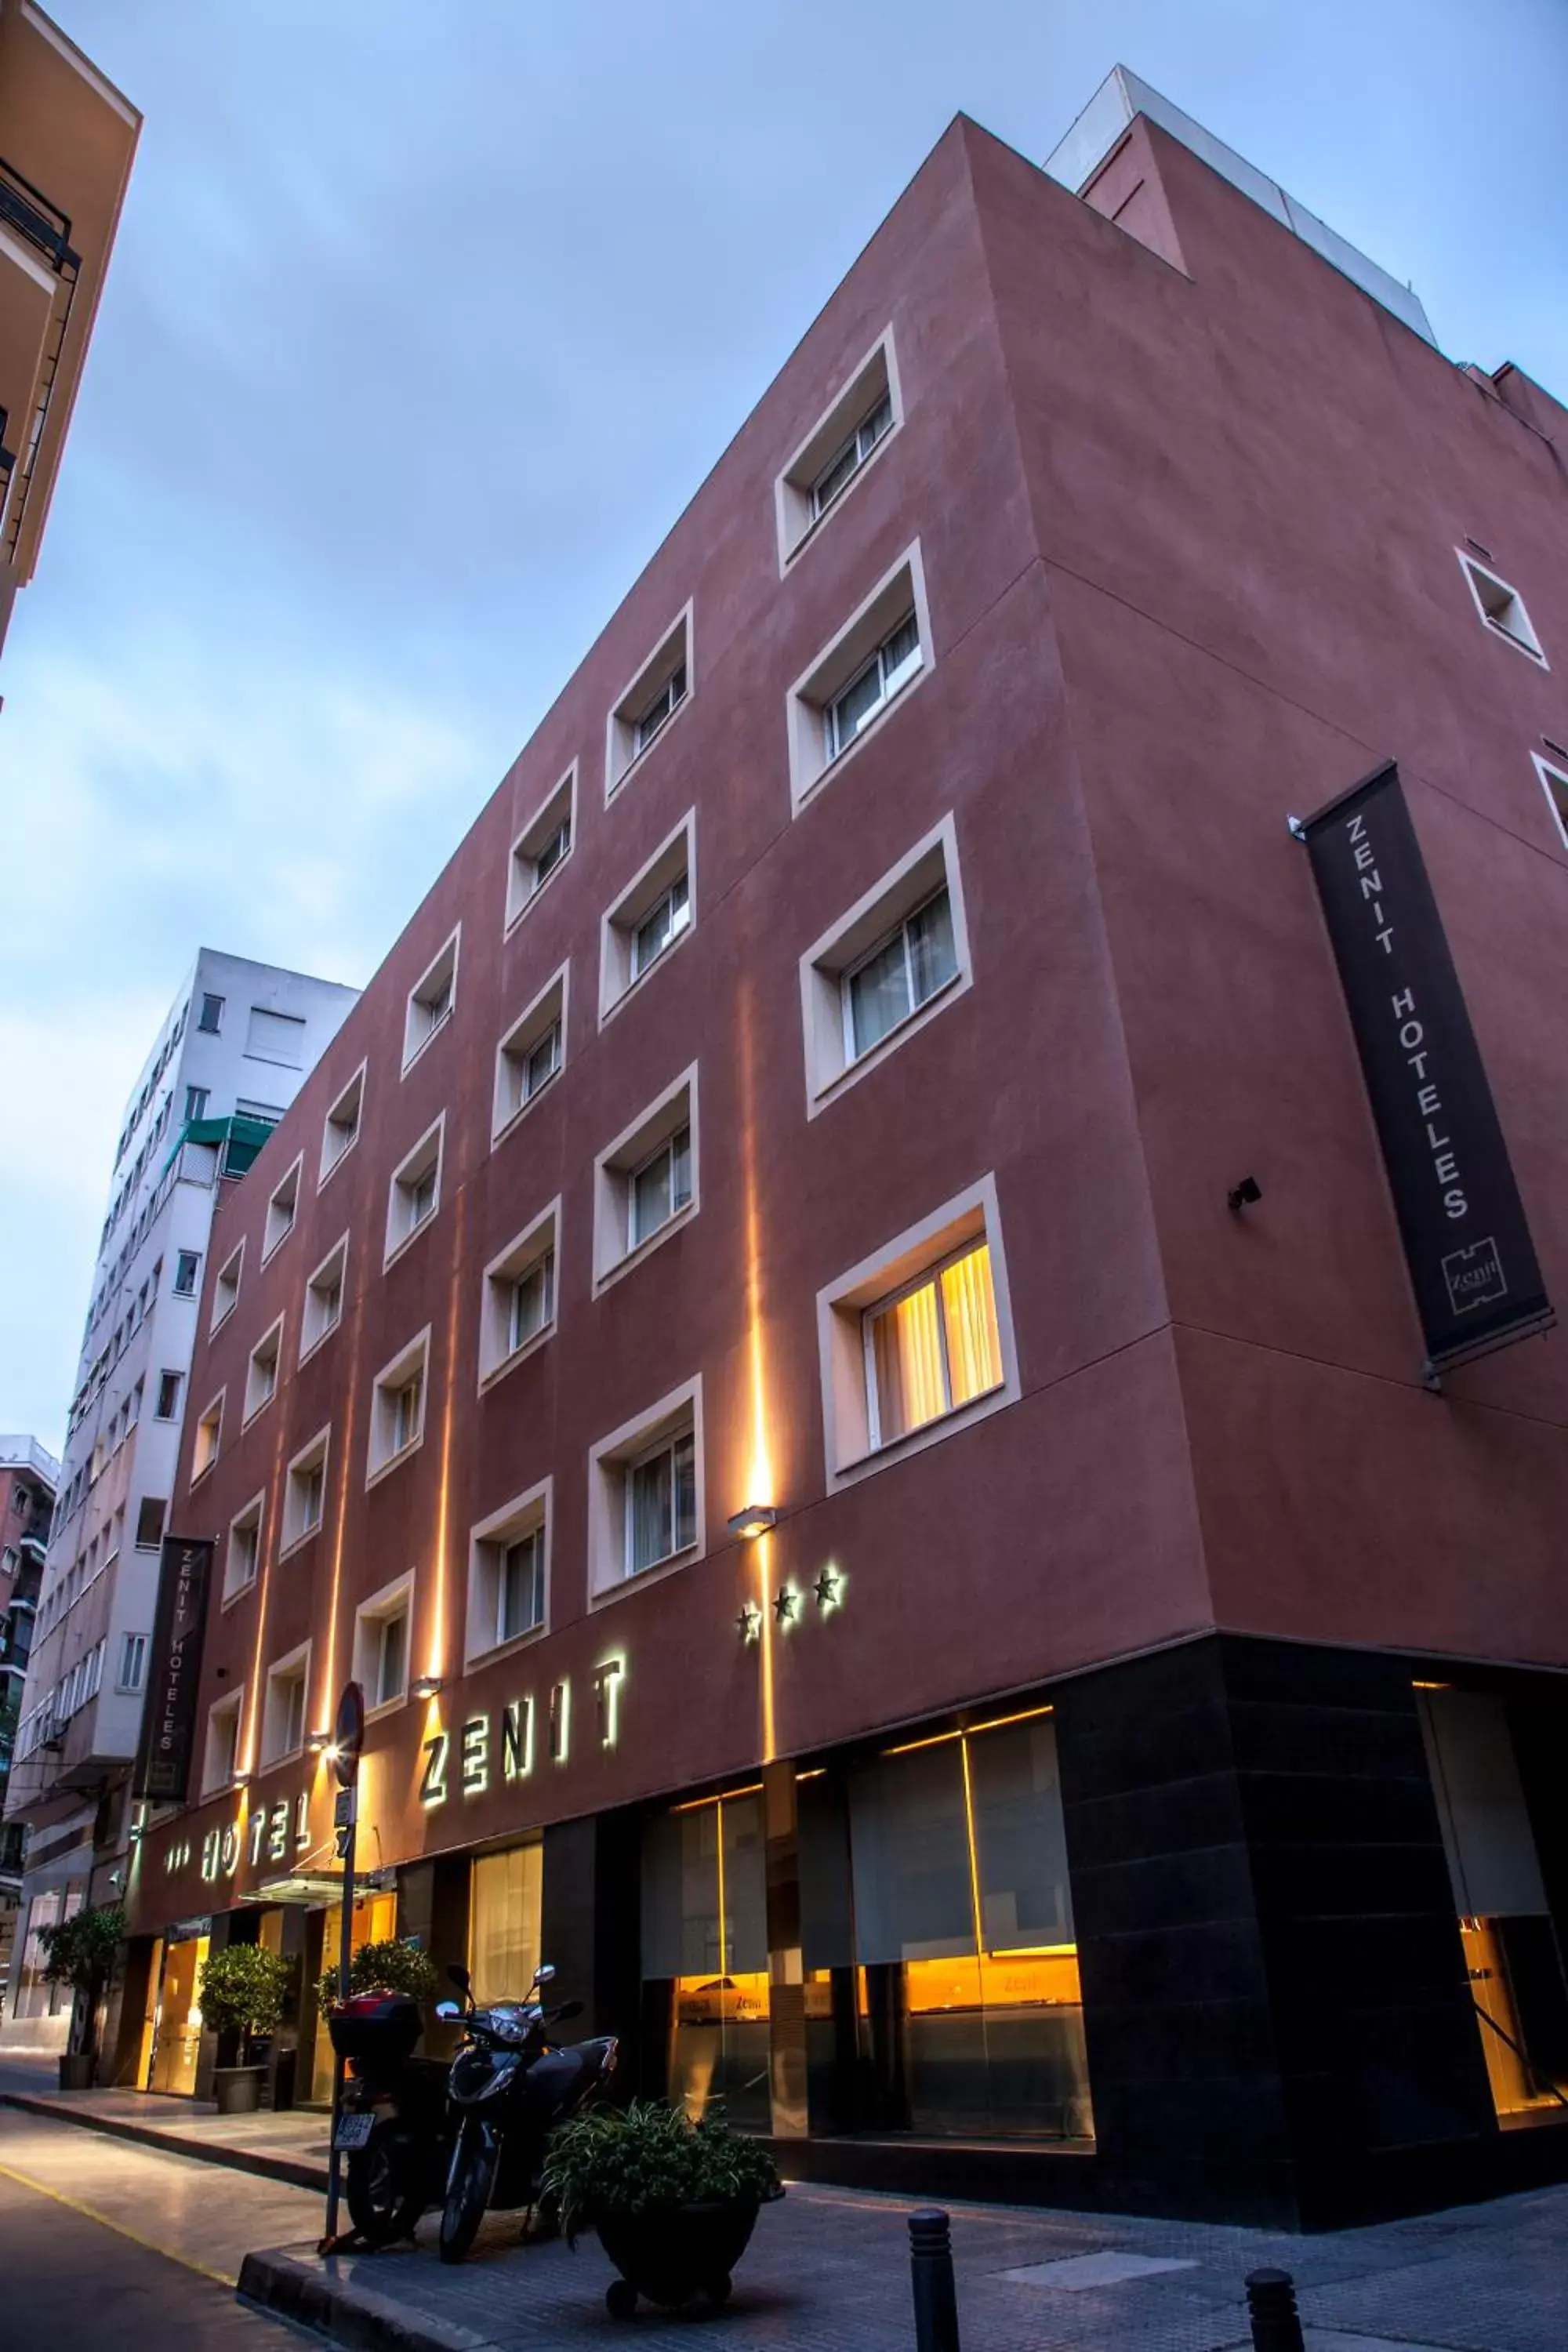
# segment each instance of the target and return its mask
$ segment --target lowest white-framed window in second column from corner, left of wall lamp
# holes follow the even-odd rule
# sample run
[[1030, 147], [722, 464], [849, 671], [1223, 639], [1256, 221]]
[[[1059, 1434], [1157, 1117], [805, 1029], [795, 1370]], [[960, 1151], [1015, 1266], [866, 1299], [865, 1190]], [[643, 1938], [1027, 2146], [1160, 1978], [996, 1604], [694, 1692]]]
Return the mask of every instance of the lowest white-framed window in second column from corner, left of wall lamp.
[[698, 1378], [588, 1454], [590, 1599], [701, 1559], [705, 1541]]

